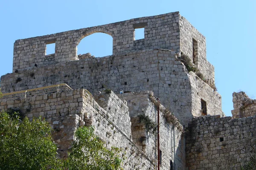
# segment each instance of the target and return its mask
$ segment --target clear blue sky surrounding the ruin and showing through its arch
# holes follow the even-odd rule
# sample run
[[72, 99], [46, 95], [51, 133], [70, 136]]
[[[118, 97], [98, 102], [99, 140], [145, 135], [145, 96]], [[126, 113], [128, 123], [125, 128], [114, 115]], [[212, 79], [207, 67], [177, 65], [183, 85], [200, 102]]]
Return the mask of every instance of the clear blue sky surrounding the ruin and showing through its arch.
[[[12, 72], [17, 39], [174, 11], [207, 39], [207, 59], [215, 66], [224, 113], [231, 116], [234, 91], [255, 99], [256, 0], [1, 0], [0, 75]], [[78, 54], [112, 54], [108, 35], [93, 34], [81, 43]]]

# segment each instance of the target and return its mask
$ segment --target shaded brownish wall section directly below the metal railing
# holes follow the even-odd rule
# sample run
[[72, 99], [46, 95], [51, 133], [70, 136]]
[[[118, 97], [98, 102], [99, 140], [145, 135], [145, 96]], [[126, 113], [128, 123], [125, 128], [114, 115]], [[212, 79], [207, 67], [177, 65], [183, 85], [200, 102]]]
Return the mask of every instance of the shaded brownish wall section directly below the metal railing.
[[0, 111], [16, 108], [29, 119], [38, 116], [47, 119], [54, 130], [53, 139], [61, 150], [60, 156], [66, 157], [70, 143], [73, 141], [74, 131], [81, 121], [81, 118], [76, 116], [81, 112], [79, 107], [81, 101], [79, 90], [8, 101], [2, 99]]

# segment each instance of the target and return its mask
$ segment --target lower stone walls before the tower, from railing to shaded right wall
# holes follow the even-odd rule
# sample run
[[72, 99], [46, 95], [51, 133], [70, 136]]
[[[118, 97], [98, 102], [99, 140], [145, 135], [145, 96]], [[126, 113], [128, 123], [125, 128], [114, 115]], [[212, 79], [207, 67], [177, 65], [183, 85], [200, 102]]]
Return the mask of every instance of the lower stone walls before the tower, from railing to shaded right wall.
[[[126, 152], [127, 160], [123, 162], [125, 169], [148, 170], [154, 167], [157, 161], [156, 133], [145, 130], [145, 125], [137, 117], [145, 114], [157, 122], [157, 107], [152, 101], [154, 97], [151, 99], [147, 92], [139, 92], [119, 94], [119, 98], [111, 91], [98, 92], [95, 96], [94, 99], [90, 92], [81, 89], [25, 99], [2, 99], [0, 110], [19, 108], [29, 119], [38, 116], [47, 119], [54, 130], [53, 139], [59, 146], [61, 157], [67, 156], [76, 129], [90, 122], [95, 127], [96, 135], [108, 146], [122, 147]], [[185, 168], [183, 127], [180, 123], [174, 125], [166, 122], [162, 112], [165, 108], [163, 105], [160, 108], [161, 169], [169, 170], [172, 161], [182, 170]], [[131, 118], [133, 123], [129, 111], [134, 113]]]

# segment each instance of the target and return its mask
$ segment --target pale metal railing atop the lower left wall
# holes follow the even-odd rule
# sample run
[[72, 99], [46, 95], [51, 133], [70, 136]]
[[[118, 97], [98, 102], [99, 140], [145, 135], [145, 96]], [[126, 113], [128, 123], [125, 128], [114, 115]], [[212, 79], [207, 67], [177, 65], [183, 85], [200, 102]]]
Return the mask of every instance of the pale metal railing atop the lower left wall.
[[16, 91], [12, 93], [5, 93], [0, 100], [14, 100], [14, 99], [23, 99], [30, 96], [38, 96], [43, 94], [52, 94], [52, 93], [59, 93], [61, 91], [69, 91], [73, 90], [67, 84], [58, 84], [58, 85], [50, 85], [41, 88], [33, 88], [29, 90], [23, 91]]

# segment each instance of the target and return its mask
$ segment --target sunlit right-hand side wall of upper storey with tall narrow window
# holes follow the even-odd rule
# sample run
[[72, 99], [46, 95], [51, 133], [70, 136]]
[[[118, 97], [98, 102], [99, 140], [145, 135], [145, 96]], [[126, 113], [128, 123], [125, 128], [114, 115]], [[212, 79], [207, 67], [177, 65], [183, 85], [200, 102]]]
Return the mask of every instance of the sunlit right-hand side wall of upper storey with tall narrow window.
[[186, 18], [180, 16], [180, 51], [188, 55], [191, 61], [193, 61], [192, 39], [198, 43], [196, 46], [195, 66], [198, 67], [204, 78], [214, 84], [214, 67], [206, 58], [206, 39]]

